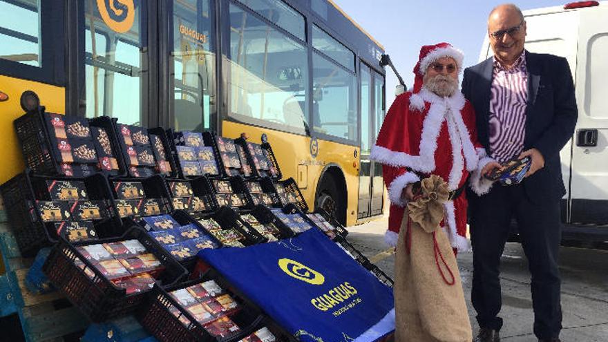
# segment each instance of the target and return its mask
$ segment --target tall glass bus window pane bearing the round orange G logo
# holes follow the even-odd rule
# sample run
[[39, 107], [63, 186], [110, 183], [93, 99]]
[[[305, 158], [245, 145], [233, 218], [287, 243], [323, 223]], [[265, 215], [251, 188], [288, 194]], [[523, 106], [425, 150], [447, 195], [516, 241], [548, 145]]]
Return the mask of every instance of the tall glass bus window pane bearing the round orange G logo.
[[84, 1], [86, 117], [146, 124], [146, 6], [131, 3]]

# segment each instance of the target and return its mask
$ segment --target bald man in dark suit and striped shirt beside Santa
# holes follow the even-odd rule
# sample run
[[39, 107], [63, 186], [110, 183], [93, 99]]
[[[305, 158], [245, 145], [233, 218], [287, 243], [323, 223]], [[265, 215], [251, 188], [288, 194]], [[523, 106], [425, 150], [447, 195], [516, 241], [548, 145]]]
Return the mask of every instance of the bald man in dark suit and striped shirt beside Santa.
[[526, 21], [519, 8], [500, 5], [488, 18], [494, 56], [464, 70], [462, 92], [474, 106], [479, 142], [491, 158], [531, 158], [526, 178], [511, 186], [469, 191], [473, 289], [479, 334], [500, 341], [500, 257], [512, 218], [532, 275], [534, 334], [560, 341], [562, 310], [558, 248], [561, 238], [560, 150], [572, 137], [578, 111], [566, 59], [524, 50]]

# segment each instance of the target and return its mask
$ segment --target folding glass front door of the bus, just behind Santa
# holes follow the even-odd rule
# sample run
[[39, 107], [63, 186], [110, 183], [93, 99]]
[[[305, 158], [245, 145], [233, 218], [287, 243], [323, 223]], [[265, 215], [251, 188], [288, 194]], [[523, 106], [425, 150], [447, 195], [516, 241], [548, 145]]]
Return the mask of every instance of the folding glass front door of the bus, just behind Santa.
[[383, 76], [361, 63], [361, 162], [357, 219], [382, 213], [382, 166], [370, 160], [370, 151], [384, 117], [383, 86]]

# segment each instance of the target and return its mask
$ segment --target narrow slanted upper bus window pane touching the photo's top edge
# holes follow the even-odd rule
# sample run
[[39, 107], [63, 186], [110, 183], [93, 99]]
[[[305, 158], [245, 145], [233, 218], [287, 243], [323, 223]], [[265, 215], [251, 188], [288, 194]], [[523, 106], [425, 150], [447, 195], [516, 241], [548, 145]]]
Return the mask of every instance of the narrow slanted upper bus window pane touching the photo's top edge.
[[304, 17], [281, 0], [239, 0], [269, 21], [306, 41]]

